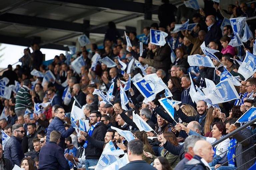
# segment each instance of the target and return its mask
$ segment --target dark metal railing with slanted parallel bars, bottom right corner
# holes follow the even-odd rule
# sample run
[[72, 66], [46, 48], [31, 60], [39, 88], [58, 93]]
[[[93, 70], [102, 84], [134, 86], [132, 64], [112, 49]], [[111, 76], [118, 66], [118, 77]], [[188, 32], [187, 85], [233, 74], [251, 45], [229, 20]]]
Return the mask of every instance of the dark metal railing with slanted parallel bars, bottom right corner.
[[[243, 126], [237, 128], [237, 129], [235, 129], [234, 131], [228, 133], [227, 135], [221, 137], [219, 140], [216, 140], [215, 142], [212, 143], [212, 146], [214, 147], [215, 145], [217, 145], [217, 144], [221, 143], [222, 141], [226, 140], [227, 138], [230, 138], [230, 137], [233, 136], [234, 134], [240, 132], [240, 131], [243, 130], [244, 128], [247, 128], [248, 126], [251, 126], [251, 125], [254, 124], [255, 122], [256, 122], [256, 118], [253, 119], [253, 120], [250, 121], [250, 122], [247, 122], [247, 123], [244, 124]], [[241, 142], [238, 142], [235, 146], [231, 147], [230, 149], [236, 147], [237, 145], [243, 143], [245, 140], [247, 140], [247, 139], [249, 139], [249, 138], [251, 138], [251, 137], [254, 137], [254, 136], [256, 136], [256, 133], [252, 134], [251, 136], [247, 137], [246, 139], [242, 140]], [[256, 146], [256, 144], [253, 144], [251, 147], [247, 148], [247, 149], [244, 150], [243, 152], [239, 153], [238, 155], [235, 155], [235, 157], [233, 157], [232, 159], [234, 159], [234, 158], [236, 158], [237, 156], [239, 156], [239, 155], [245, 153], [246, 151], [248, 151], [249, 149], [252, 149], [252, 148], [255, 147], [255, 146]], [[230, 149], [228, 149], [228, 150], [230, 150]], [[223, 152], [222, 154], [228, 152], [228, 150], [226, 150], [226, 151]], [[216, 159], [216, 158], [217, 158], [217, 157], [215, 157], [214, 159]], [[230, 160], [232, 160], [232, 159], [230, 159]], [[244, 163], [244, 164], [238, 166], [236, 169], [238, 169], [238, 168], [244, 166], [245, 164], [249, 163], [250, 161], [253, 161], [254, 159], [256, 159], [256, 157], [254, 157], [254, 158], [250, 159], [249, 161], [247, 161], [246, 163]], [[221, 164], [219, 167], [224, 166], [224, 165], [225, 165], [226, 163], [228, 163], [228, 161], [230, 161], [230, 160], [227, 160], [226, 162], [224, 162], [223, 164]], [[219, 167], [218, 167], [218, 168], [219, 168]], [[216, 169], [218, 169], [218, 168], [216, 168]]]

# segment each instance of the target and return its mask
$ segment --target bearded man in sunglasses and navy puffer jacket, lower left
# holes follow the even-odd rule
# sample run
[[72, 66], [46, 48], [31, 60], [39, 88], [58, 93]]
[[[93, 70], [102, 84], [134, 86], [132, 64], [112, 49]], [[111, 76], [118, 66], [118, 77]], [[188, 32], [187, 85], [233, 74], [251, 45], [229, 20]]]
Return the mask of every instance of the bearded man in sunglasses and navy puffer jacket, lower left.
[[21, 160], [24, 158], [21, 142], [25, 135], [23, 125], [14, 124], [12, 126], [12, 136], [5, 143], [4, 157], [12, 162], [12, 165], [20, 165]]

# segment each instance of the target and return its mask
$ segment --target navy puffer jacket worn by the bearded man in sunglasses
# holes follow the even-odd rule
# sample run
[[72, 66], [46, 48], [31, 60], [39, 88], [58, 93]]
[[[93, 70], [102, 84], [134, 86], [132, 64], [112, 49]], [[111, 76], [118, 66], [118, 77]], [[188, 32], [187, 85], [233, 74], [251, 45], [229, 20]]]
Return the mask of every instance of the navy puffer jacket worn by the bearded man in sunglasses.
[[20, 165], [21, 160], [24, 158], [24, 152], [22, 150], [21, 141], [15, 136], [5, 143], [4, 146], [4, 157], [12, 162], [12, 165]]

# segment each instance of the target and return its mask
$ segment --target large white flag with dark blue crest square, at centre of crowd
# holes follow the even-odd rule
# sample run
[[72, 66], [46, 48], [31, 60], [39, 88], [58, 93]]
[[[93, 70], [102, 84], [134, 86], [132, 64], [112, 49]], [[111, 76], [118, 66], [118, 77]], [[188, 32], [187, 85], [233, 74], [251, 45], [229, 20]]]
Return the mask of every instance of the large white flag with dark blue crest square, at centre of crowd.
[[148, 101], [154, 100], [156, 94], [165, 89], [159, 83], [159, 77], [156, 73], [146, 75], [133, 84]]

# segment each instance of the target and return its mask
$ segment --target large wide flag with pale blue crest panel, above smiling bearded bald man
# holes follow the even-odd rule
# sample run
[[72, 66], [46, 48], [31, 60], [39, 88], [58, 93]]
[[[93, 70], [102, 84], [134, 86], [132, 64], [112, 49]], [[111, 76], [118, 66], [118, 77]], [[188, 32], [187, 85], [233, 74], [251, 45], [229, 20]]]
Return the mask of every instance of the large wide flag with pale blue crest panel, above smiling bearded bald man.
[[239, 98], [239, 95], [230, 80], [219, 82], [214, 88], [202, 89], [212, 104], [224, 103]]

